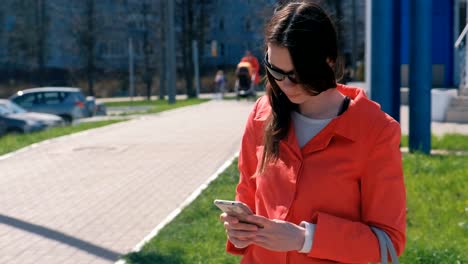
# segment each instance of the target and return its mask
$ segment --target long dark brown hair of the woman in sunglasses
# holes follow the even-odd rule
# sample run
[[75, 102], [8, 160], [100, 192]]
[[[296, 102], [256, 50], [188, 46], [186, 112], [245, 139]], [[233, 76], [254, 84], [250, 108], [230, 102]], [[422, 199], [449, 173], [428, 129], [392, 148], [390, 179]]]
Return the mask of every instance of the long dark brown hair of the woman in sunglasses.
[[[338, 61], [337, 31], [329, 15], [312, 1], [287, 2], [278, 6], [265, 30], [266, 44], [288, 49], [298, 83], [310, 95], [336, 87]], [[330, 66], [330, 64], [332, 66]], [[265, 123], [264, 149], [260, 172], [279, 157], [279, 142], [289, 129], [289, 101], [275, 79], [267, 73], [267, 96], [271, 114]]]

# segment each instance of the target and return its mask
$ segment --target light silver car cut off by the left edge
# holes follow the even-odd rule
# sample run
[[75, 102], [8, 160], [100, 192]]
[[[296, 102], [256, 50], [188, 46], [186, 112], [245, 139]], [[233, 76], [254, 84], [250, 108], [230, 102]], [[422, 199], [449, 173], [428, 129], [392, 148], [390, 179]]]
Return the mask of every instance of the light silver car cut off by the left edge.
[[45, 127], [63, 126], [65, 124], [64, 120], [58, 115], [28, 112], [7, 99], [0, 99], [0, 115], [9, 118], [34, 120], [45, 125]]

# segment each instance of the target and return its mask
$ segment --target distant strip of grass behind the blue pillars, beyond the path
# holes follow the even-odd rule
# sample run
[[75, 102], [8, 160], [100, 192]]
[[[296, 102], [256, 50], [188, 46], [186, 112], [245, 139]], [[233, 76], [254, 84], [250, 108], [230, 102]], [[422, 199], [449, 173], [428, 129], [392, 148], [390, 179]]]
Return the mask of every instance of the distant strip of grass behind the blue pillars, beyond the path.
[[[408, 147], [408, 136], [401, 137], [401, 145]], [[445, 134], [443, 136], [431, 137], [432, 149], [445, 149], [445, 150], [465, 150], [468, 151], [468, 135], [461, 134]]]

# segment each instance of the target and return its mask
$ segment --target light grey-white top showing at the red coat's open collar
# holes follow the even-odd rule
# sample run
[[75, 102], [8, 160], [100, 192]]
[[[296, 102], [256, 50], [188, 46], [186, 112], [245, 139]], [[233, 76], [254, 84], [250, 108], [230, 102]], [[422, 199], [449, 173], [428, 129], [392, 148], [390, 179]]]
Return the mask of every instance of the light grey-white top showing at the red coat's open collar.
[[297, 143], [299, 147], [304, 147], [315, 135], [317, 135], [324, 127], [332, 121], [333, 118], [328, 119], [313, 119], [292, 111], [291, 118], [296, 131]]

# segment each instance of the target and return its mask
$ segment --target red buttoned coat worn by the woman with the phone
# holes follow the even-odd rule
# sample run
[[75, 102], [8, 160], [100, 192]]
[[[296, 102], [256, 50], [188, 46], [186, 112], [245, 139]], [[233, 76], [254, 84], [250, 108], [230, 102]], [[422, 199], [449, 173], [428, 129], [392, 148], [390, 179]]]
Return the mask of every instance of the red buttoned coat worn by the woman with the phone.
[[[280, 157], [255, 175], [262, 156], [263, 124], [270, 113], [260, 98], [247, 121], [239, 156], [236, 199], [269, 219], [316, 224], [312, 250], [273, 252], [251, 245], [227, 251], [241, 263], [379, 262], [370, 225], [385, 230], [400, 255], [405, 245], [406, 201], [399, 124], [361, 89], [339, 85], [352, 101], [302, 149], [291, 125]], [[255, 177], [252, 177], [255, 176]]]

